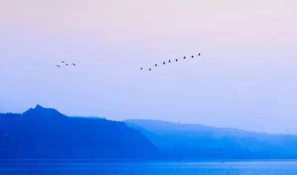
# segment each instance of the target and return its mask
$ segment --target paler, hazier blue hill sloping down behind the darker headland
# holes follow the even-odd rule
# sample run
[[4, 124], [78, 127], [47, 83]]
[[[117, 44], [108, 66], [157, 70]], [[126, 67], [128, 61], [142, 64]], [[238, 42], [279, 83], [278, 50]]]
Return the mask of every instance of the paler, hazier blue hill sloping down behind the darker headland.
[[171, 159], [297, 159], [297, 136], [130, 119], [127, 126], [141, 131]]

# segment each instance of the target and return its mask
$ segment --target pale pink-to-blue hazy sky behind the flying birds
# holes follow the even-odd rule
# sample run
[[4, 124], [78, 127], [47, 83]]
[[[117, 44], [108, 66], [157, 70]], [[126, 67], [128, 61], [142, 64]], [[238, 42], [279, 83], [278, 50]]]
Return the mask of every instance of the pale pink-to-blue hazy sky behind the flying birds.
[[296, 0], [1, 0], [0, 112], [40, 104], [297, 134], [296, 9]]

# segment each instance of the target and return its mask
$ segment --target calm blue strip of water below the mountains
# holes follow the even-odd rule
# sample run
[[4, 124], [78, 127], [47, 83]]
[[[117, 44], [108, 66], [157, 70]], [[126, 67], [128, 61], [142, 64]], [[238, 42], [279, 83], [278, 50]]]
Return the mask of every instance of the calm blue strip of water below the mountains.
[[0, 175], [297, 175], [297, 161], [0, 160]]

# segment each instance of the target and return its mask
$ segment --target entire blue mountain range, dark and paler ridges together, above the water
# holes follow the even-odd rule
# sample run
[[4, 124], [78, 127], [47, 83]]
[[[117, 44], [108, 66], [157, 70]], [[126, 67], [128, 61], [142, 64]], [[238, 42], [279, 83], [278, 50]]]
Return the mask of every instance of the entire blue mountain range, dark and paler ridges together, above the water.
[[297, 136], [67, 117], [37, 105], [0, 114], [0, 159], [297, 159]]

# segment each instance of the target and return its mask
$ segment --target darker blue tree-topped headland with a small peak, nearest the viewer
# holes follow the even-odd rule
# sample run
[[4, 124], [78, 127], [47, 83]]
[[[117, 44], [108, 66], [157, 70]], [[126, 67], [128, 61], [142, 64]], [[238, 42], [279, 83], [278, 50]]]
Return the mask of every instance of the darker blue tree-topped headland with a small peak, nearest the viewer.
[[37, 105], [0, 114], [0, 159], [151, 159], [158, 149], [123, 122], [67, 117]]

